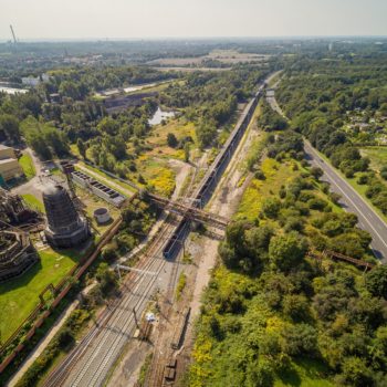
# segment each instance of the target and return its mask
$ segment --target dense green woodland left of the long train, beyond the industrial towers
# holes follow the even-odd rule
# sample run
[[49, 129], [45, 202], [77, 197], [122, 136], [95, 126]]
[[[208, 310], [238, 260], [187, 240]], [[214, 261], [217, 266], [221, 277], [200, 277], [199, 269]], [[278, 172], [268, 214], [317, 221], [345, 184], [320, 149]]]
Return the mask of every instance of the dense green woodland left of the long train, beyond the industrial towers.
[[[25, 140], [42, 160], [69, 157], [75, 149], [81, 158], [107, 171], [147, 185], [136, 160], [150, 149], [148, 121], [158, 105], [195, 124], [201, 149], [218, 147], [236, 119], [238, 104], [249, 98], [266, 71], [240, 65], [232, 71], [195, 72], [184, 77], [145, 66], [51, 71], [49, 81], [27, 94], [0, 95], [0, 140]], [[140, 106], [111, 114], [104, 100], [94, 95], [102, 88], [166, 80], [169, 83], [144, 98]], [[53, 93], [59, 94], [59, 101], [53, 101]], [[192, 137], [180, 142], [172, 138], [170, 146], [188, 149], [187, 143], [194, 143]]]

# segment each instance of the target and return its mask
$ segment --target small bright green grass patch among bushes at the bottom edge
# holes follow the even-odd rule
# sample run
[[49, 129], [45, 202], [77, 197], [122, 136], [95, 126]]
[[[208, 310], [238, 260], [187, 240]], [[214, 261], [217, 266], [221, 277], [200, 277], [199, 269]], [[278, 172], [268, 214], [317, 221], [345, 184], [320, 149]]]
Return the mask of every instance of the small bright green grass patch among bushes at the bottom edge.
[[335, 386], [327, 379], [327, 369], [323, 364], [303, 359], [292, 363], [292, 369], [278, 376], [274, 387], [296, 386], [296, 387], [333, 387]]

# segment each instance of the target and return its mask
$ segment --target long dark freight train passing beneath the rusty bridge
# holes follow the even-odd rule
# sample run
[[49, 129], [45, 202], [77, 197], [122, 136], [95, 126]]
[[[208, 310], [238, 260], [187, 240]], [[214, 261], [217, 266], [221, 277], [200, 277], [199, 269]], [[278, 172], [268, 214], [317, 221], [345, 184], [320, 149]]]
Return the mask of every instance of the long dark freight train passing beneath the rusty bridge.
[[[227, 168], [234, 150], [237, 149], [241, 138], [245, 129], [249, 126], [249, 123], [254, 114], [257, 105], [260, 101], [260, 97], [263, 94], [265, 88], [265, 83], [262, 83], [253, 96], [253, 98], [245, 106], [243, 113], [241, 114], [236, 127], [231, 132], [228, 140], [224, 143], [217, 158], [213, 160], [212, 165], [206, 172], [202, 178], [199, 187], [194, 194], [194, 207], [205, 207], [207, 201], [210, 199], [215, 188], [217, 187], [222, 172]], [[181, 248], [181, 243], [184, 238], [186, 238], [189, 232], [189, 223], [190, 221], [187, 219], [181, 219], [179, 224], [177, 226], [175, 232], [168, 240], [167, 244], [163, 250], [163, 255], [166, 259], [172, 259]]]

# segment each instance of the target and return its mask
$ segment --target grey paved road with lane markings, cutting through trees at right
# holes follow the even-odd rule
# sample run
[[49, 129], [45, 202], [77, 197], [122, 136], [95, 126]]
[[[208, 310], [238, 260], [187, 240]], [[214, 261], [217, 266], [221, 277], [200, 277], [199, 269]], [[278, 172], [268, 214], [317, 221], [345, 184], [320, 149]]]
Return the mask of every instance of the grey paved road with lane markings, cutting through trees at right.
[[381, 263], [387, 263], [387, 224], [375, 212], [375, 210], [360, 197], [359, 194], [318, 153], [305, 142], [304, 145], [307, 159], [324, 170], [323, 180], [331, 184], [331, 189], [342, 196], [341, 205], [347, 211], [356, 213], [358, 226], [368, 231], [373, 237], [370, 244], [375, 255]]

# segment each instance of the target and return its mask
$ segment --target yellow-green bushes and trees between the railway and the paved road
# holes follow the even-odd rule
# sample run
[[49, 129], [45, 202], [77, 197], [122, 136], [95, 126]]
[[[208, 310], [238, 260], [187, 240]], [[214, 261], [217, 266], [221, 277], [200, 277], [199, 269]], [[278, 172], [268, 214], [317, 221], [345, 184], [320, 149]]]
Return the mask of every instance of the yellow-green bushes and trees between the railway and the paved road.
[[269, 140], [278, 160], [263, 161], [241, 207], [255, 186], [258, 200], [237, 213], [219, 248], [190, 386], [385, 386], [386, 268], [364, 275], [308, 257], [333, 249], [373, 260], [370, 236], [335, 205], [321, 170], [300, 161], [299, 134]]

